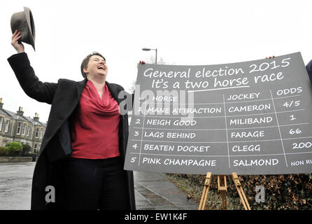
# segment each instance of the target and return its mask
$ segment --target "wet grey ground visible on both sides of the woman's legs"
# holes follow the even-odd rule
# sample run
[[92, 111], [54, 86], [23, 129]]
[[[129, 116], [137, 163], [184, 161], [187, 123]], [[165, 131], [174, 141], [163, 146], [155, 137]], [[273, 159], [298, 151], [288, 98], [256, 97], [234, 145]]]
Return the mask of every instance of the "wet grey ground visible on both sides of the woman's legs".
[[[29, 210], [35, 162], [0, 163], [0, 210]], [[164, 174], [134, 172], [137, 210], [197, 210]]]

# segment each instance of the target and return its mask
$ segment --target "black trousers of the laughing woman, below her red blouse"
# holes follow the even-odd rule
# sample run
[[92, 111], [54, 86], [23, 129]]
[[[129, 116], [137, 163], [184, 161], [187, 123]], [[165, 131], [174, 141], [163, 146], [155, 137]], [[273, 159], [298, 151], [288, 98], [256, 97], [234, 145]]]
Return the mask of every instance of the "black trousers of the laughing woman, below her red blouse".
[[129, 193], [120, 157], [67, 158], [63, 164], [62, 209], [129, 209]]

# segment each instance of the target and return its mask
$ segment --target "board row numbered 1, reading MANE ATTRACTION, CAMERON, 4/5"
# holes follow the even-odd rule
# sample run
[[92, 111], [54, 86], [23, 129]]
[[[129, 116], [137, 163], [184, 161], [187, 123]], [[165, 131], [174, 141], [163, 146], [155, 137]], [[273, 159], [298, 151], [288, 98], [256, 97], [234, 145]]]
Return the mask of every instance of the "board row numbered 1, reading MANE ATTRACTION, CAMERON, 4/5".
[[213, 104], [141, 104], [134, 108], [136, 116], [248, 116], [252, 114], [301, 111], [308, 105], [299, 97], [287, 99], [262, 99], [253, 102], [227, 102]]

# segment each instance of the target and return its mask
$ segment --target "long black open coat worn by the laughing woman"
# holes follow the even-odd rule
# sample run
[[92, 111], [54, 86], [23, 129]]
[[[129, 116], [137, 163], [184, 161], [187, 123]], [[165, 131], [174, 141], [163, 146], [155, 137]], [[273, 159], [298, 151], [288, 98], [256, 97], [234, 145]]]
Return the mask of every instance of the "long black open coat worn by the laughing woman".
[[[80, 101], [81, 94], [87, 79], [76, 82], [68, 79], [59, 79], [58, 83], [42, 83], [35, 76], [30, 66], [27, 54], [12, 55], [8, 58], [17, 80], [24, 92], [38, 102], [51, 104], [48, 125], [41, 143], [38, 160], [34, 169], [31, 188], [31, 209], [59, 209], [58, 190], [62, 189], [61, 179], [62, 160], [72, 153], [70, 118]], [[107, 83], [108, 89], [118, 104], [118, 94], [123, 90], [120, 85]], [[119, 150], [125, 161], [127, 140], [129, 134], [128, 116], [120, 115]], [[133, 172], [125, 171], [129, 189], [129, 207], [135, 209], [134, 177]], [[55, 187], [55, 202], [46, 203], [46, 186]]]

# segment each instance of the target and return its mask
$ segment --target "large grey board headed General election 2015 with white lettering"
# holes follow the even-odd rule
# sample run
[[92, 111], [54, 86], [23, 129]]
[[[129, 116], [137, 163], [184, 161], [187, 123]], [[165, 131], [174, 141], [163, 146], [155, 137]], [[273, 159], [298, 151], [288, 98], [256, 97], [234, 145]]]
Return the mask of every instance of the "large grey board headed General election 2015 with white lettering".
[[300, 52], [207, 66], [140, 64], [125, 169], [311, 173], [311, 95]]

